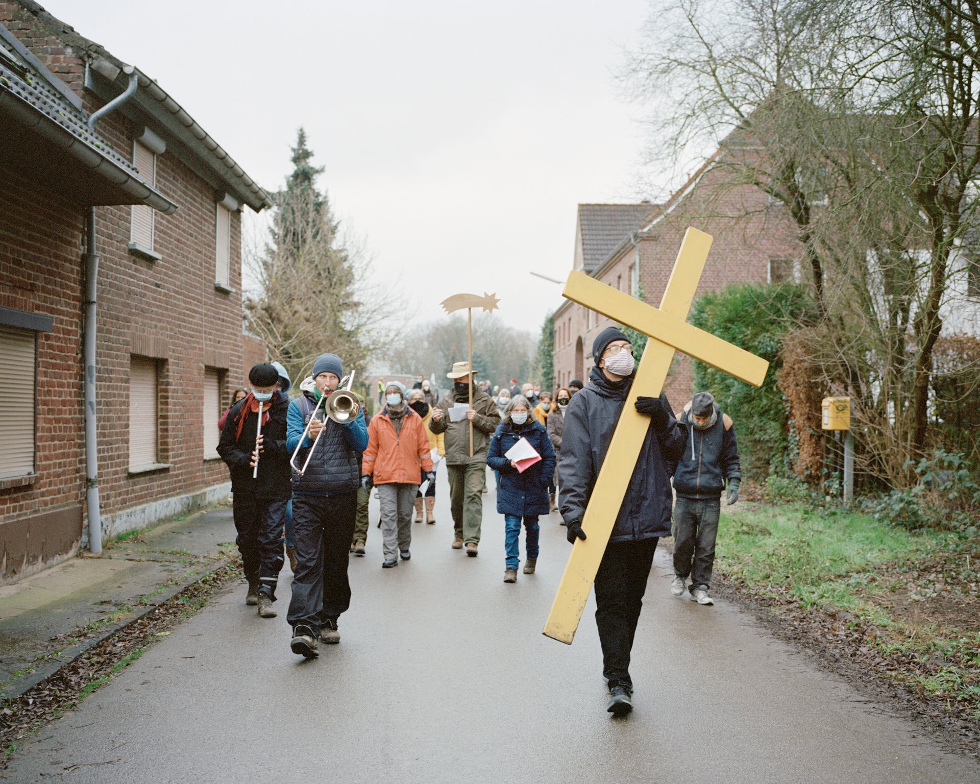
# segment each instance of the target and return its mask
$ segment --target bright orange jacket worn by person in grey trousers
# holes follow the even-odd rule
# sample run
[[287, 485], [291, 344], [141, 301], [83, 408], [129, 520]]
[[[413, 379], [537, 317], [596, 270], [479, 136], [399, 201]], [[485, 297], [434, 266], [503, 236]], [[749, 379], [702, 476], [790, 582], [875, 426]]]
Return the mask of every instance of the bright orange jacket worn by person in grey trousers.
[[432, 470], [430, 452], [422, 417], [408, 409], [402, 417], [401, 432], [396, 432], [385, 406], [368, 425], [368, 449], [361, 473], [372, 476], [374, 484], [418, 485], [422, 471]]

